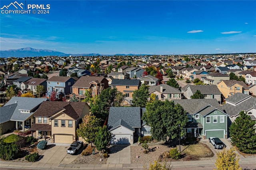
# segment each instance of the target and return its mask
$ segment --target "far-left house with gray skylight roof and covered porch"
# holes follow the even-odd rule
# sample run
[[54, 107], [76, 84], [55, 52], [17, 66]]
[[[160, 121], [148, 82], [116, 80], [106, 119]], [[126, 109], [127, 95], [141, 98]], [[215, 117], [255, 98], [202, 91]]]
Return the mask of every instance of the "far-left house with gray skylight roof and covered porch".
[[13, 129], [24, 131], [25, 128], [30, 128], [34, 123], [34, 112], [46, 100], [48, 99], [12, 97], [3, 107], [0, 107], [2, 133]]

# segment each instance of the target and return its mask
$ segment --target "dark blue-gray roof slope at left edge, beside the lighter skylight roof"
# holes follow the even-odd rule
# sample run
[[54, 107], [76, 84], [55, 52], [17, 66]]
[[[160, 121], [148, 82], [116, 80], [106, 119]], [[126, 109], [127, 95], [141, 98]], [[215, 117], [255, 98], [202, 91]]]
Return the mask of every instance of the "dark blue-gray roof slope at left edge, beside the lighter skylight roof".
[[0, 123], [5, 123], [7, 121], [10, 121], [12, 117], [12, 113], [14, 112], [16, 106], [17, 106], [17, 103], [0, 107]]

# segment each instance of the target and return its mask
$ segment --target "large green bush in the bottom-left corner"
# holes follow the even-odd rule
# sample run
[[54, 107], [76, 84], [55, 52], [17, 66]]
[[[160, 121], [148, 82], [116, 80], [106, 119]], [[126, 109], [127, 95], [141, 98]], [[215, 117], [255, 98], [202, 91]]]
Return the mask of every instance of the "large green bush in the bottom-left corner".
[[0, 158], [3, 160], [14, 160], [18, 157], [20, 148], [16, 143], [5, 143], [0, 141]]

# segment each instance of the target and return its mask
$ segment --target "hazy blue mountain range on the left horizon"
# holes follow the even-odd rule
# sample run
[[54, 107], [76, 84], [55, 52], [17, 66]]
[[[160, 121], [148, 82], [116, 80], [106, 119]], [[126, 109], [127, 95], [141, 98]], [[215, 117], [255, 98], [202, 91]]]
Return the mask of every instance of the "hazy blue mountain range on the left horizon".
[[[101, 56], [99, 53], [83, 53], [83, 54], [66, 54], [59, 51], [52, 51], [49, 49], [34, 49], [31, 47], [20, 49], [9, 49], [0, 51], [0, 57], [43, 57], [43, 56]], [[115, 54], [115, 55], [138, 55], [138, 54]], [[144, 54], [143, 54], [144, 55]]]

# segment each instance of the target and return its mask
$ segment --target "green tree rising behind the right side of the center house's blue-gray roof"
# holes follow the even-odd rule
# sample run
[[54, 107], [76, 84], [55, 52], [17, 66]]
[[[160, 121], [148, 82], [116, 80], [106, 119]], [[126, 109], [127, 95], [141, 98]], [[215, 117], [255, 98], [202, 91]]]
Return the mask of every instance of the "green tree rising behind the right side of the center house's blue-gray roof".
[[138, 90], [133, 91], [132, 102], [134, 107], [146, 107], [148, 102], [148, 87], [144, 84]]

